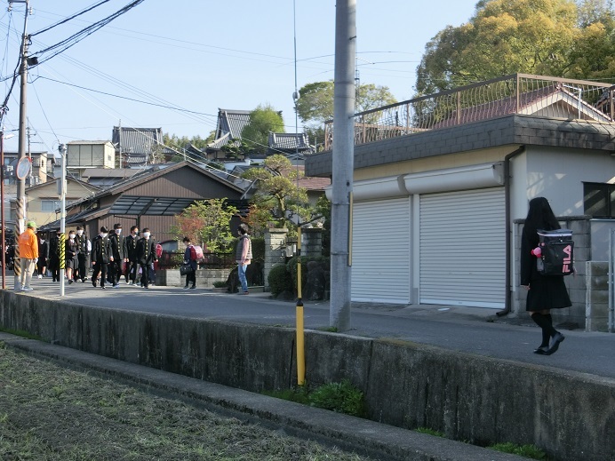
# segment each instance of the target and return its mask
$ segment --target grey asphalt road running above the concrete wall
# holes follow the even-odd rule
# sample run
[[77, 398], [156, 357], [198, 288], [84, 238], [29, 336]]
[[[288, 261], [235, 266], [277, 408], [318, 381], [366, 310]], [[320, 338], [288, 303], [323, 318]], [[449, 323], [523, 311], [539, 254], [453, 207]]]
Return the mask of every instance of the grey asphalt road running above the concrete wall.
[[[12, 275], [7, 288], [12, 288]], [[23, 296], [62, 299], [66, 302], [151, 314], [217, 319], [294, 327], [296, 303], [270, 299], [268, 293], [248, 296], [214, 293], [197, 288], [150, 286], [148, 290], [122, 284], [100, 290], [91, 283], [65, 286], [50, 278], [33, 279], [34, 291]], [[562, 330], [566, 339], [556, 354], [532, 354], [540, 343], [540, 330], [530, 320], [496, 316], [496, 310], [459, 306], [395, 306], [353, 303], [351, 330], [345, 333], [369, 338], [397, 338], [439, 346], [468, 354], [481, 354], [515, 362], [536, 363], [561, 370], [615, 378], [615, 334]], [[330, 325], [328, 302], [304, 301], [306, 329]], [[520, 324], [521, 323], [521, 324]]]

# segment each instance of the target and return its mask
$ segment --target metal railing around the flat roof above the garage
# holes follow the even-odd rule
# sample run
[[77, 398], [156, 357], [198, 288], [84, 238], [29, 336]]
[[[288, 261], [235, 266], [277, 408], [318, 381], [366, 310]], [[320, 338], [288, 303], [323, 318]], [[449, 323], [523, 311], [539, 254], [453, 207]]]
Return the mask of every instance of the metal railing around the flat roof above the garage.
[[[514, 74], [355, 114], [355, 145], [524, 114], [612, 123], [611, 83]], [[324, 123], [331, 150], [333, 121]]]

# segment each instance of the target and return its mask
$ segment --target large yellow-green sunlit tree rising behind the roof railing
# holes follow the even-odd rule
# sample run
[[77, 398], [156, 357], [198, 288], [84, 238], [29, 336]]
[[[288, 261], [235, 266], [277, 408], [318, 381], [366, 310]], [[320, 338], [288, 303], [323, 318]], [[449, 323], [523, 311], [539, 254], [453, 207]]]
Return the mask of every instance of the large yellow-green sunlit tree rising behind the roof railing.
[[515, 73], [565, 76], [579, 36], [572, 0], [483, 0], [459, 28], [426, 45], [417, 69], [419, 94]]

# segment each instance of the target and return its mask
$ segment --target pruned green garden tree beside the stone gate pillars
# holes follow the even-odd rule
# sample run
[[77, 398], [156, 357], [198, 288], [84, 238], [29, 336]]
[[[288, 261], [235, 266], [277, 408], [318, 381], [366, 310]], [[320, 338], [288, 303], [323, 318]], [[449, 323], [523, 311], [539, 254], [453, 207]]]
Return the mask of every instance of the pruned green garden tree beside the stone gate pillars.
[[[254, 217], [259, 216], [260, 226], [266, 223], [262, 219], [274, 221], [276, 226], [295, 228], [321, 219], [322, 215], [310, 205], [305, 187], [297, 186], [297, 179], [303, 176], [301, 171], [293, 168], [284, 155], [270, 155], [265, 159], [263, 168], [251, 168], [242, 174], [242, 178], [257, 182], [257, 192], [252, 197]], [[263, 215], [257, 211], [267, 210]], [[251, 224], [253, 226], [253, 224]]]

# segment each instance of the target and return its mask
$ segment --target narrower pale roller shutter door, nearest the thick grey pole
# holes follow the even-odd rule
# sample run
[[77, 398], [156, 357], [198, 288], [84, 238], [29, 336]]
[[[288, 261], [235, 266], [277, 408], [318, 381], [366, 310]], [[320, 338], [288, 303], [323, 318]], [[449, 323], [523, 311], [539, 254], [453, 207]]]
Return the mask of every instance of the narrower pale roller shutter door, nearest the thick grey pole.
[[407, 197], [355, 203], [352, 300], [410, 302], [410, 203]]

